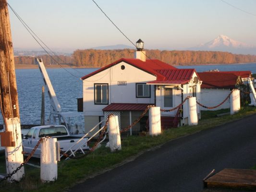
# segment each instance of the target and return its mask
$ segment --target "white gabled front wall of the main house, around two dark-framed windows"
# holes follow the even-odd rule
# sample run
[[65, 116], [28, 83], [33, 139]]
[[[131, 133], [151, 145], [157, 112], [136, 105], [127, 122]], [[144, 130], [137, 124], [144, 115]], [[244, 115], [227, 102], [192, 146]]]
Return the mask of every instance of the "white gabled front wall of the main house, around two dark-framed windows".
[[[125, 69], [122, 70], [121, 66]], [[154, 85], [151, 86], [150, 98], [136, 98], [136, 83], [156, 80], [156, 76], [144, 72], [130, 64], [121, 62], [83, 81], [83, 101], [85, 116], [103, 116], [102, 109], [108, 105], [94, 104], [94, 84], [109, 84], [109, 104], [111, 103], [155, 103]], [[118, 85], [126, 81], [127, 85]]]

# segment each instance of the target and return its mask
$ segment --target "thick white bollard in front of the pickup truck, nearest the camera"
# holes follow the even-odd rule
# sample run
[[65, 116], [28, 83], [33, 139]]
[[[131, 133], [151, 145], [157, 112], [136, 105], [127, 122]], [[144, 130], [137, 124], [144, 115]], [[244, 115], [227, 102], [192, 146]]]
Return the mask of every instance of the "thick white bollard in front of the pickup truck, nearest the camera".
[[57, 138], [44, 138], [41, 143], [41, 180], [49, 182], [57, 180], [58, 165], [56, 156]]

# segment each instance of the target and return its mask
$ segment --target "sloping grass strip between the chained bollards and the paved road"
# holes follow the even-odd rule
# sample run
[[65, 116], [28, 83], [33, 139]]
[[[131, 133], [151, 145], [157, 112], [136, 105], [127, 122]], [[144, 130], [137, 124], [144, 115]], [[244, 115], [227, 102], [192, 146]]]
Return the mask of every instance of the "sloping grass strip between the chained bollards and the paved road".
[[177, 129], [164, 131], [156, 137], [127, 136], [122, 139], [122, 150], [110, 153], [109, 148], [101, 147], [92, 154], [80, 158], [61, 161], [58, 163], [58, 180], [52, 183], [43, 184], [40, 181], [40, 169], [25, 166], [25, 177], [19, 183], [0, 183], [1, 192], [62, 192], [73, 183], [96, 175], [104, 170], [113, 168], [127, 159], [140, 154], [154, 146], [164, 144], [172, 139], [184, 135], [193, 134], [202, 130], [212, 128], [245, 116], [255, 114], [256, 108], [242, 108], [235, 115], [227, 115], [211, 120], [200, 120], [197, 126], [183, 126]]

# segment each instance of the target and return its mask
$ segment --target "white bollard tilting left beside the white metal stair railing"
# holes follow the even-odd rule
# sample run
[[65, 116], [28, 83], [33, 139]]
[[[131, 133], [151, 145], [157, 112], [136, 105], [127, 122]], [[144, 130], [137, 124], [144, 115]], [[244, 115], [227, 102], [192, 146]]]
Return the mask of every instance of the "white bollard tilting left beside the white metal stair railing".
[[111, 152], [121, 150], [121, 137], [118, 116], [110, 116], [109, 119], [109, 139]]

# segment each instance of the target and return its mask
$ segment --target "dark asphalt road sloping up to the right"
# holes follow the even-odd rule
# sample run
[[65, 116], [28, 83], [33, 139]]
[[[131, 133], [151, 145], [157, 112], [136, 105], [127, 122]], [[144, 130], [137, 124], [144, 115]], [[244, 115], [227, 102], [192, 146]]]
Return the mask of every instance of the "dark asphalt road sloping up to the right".
[[223, 168], [251, 168], [254, 165], [256, 115], [168, 142], [69, 190], [201, 192], [202, 180], [212, 169], [218, 172]]

